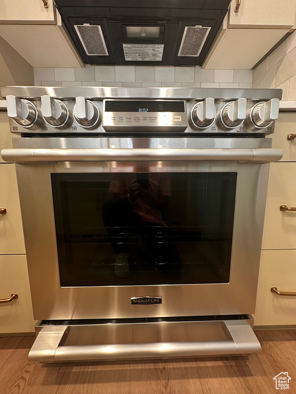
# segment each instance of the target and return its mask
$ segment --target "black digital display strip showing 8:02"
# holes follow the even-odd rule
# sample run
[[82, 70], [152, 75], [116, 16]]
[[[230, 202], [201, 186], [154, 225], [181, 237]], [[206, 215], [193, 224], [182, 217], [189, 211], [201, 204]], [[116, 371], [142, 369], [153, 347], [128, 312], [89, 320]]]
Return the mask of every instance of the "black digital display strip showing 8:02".
[[105, 112], [185, 112], [183, 101], [106, 100]]

